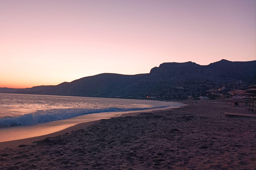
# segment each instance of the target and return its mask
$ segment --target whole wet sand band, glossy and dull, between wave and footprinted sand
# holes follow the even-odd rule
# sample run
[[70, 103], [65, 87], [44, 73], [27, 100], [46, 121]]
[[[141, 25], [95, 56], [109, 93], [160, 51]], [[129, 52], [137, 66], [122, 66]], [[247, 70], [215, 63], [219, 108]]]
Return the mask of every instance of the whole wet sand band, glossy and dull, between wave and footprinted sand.
[[[14, 131], [14, 133], [12, 131], [8, 131], [8, 129], [4, 133], [2, 133], [3, 131], [0, 131], [0, 137], [3, 138], [3, 139], [0, 138], [0, 141], [4, 140], [5, 137], [9, 137], [8, 135], [10, 135], [10, 134], [11, 134], [11, 136], [9, 138], [20, 138], [20, 137], [23, 137], [23, 138], [18, 139], [18, 140], [11, 140], [11, 141], [4, 140], [4, 142], [0, 142], [0, 149], [6, 148], [6, 147], [9, 147], [9, 148], [17, 147], [20, 144], [32, 144], [32, 142], [37, 141], [37, 140], [42, 140], [46, 137], [54, 137], [54, 136], [58, 136], [58, 135], [61, 135], [64, 133], [70, 133], [73, 130], [87, 128], [90, 125], [92, 125], [96, 122], [99, 122], [102, 119], [110, 119], [110, 118], [125, 117], [125, 116], [135, 116], [140, 113], [155, 112], [155, 111], [160, 111], [160, 110], [171, 110], [173, 108], [179, 108], [179, 107], [181, 107], [181, 106], [171, 106], [171, 107], [167, 107], [167, 108], [149, 109], [149, 110], [144, 110], [144, 111], [109, 112], [109, 113], [89, 114], [89, 115], [83, 115], [81, 117], [76, 117], [76, 118], [71, 118], [71, 119], [66, 119], [66, 120], [42, 123], [40, 125], [36, 124], [36, 125], [32, 125], [32, 126], [30, 126], [30, 125], [23, 126], [22, 127], [23, 130], [20, 130], [20, 131], [18, 131], [20, 129], [19, 127], [11, 127], [11, 128], [17, 128], [18, 130]], [[59, 128], [59, 126], [51, 126], [51, 124], [56, 124], [55, 122], [58, 122], [57, 124], [61, 125], [61, 128]], [[77, 122], [82, 122], [82, 123], [77, 123]], [[66, 125], [62, 125], [62, 124], [66, 124]], [[67, 128], [62, 128], [65, 126]], [[35, 129], [33, 130], [33, 128], [35, 128]], [[43, 128], [43, 129], [40, 130], [40, 128]], [[56, 129], [53, 129], [53, 128], [56, 128]], [[43, 131], [45, 133], [45, 130], [47, 130], [47, 129], [54, 130], [54, 132], [53, 133], [48, 132], [48, 133], [42, 135], [41, 132]], [[58, 129], [60, 129], [60, 130], [58, 130]], [[19, 133], [22, 133], [22, 134], [19, 134]], [[26, 138], [26, 136], [29, 136], [27, 133], [30, 133], [29, 134], [30, 136], [31, 136], [31, 133], [33, 133], [32, 135], [35, 135], [35, 136]], [[13, 135], [19, 135], [19, 136], [13, 136]]]

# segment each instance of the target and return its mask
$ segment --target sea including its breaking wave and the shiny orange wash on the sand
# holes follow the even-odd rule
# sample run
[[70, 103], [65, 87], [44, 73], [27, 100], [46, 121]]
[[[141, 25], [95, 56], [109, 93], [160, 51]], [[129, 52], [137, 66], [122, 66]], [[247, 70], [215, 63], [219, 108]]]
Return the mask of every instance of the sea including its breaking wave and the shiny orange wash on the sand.
[[156, 100], [0, 94], [0, 142], [45, 135], [130, 112], [181, 106]]

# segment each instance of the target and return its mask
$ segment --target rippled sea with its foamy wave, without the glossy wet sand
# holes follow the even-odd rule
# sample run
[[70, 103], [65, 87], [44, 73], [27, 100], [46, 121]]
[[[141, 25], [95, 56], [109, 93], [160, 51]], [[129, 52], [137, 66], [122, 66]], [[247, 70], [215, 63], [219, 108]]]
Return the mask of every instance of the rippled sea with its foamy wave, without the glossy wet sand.
[[87, 114], [182, 106], [152, 100], [0, 94], [0, 128], [64, 120]]

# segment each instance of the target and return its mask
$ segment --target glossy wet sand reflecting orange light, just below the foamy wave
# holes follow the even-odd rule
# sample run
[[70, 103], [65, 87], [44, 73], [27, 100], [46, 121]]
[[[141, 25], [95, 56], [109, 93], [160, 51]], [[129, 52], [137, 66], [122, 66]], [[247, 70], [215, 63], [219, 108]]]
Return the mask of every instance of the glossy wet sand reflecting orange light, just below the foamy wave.
[[[97, 121], [101, 119], [110, 119], [110, 118], [120, 117], [126, 114], [134, 114], [134, 113], [136, 114], [140, 112], [149, 112], [149, 111], [156, 111], [156, 110], [167, 110], [167, 109], [178, 108], [178, 107], [179, 106], [170, 106], [166, 108], [148, 109], [148, 110], [140, 110], [140, 111], [94, 113], [94, 114], [77, 116], [70, 119], [50, 121], [50, 122], [27, 125], [27, 126], [14, 126], [14, 127], [8, 127], [8, 128], [0, 128], [0, 148], [1, 148], [1, 142], [21, 140], [21, 139], [38, 137], [38, 136], [44, 136], [44, 137], [53, 136], [53, 135], [49, 135], [51, 133], [54, 133], [55, 134], [54, 136], [56, 136], [57, 134], [59, 134], [58, 131], [62, 131], [62, 133], [64, 133], [65, 131], [64, 129], [72, 129], [72, 130], [79, 129], [79, 126], [76, 126], [78, 128], [75, 128], [73, 126], [81, 123], [92, 122], [92, 121]], [[67, 131], [67, 132], [70, 132], [70, 131]], [[25, 142], [25, 140], [22, 140], [22, 141]], [[10, 142], [10, 143], [13, 143], [13, 142]]]

